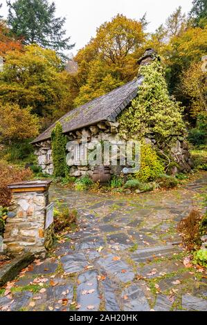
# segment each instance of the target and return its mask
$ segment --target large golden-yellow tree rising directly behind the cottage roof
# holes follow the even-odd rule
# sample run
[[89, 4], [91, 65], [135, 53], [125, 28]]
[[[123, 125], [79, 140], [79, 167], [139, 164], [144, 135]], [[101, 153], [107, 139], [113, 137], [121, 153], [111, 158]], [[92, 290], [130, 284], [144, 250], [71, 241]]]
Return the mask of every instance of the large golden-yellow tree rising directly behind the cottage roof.
[[117, 15], [97, 29], [96, 37], [78, 52], [75, 106], [103, 95], [136, 76], [141, 56], [144, 21]]

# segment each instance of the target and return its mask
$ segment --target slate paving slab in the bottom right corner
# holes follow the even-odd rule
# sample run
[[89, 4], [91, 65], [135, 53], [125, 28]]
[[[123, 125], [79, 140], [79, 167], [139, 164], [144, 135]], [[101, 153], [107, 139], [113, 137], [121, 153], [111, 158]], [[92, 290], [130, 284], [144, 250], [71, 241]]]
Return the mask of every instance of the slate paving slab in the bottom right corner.
[[192, 295], [183, 295], [182, 307], [186, 310], [207, 310], [207, 300]]

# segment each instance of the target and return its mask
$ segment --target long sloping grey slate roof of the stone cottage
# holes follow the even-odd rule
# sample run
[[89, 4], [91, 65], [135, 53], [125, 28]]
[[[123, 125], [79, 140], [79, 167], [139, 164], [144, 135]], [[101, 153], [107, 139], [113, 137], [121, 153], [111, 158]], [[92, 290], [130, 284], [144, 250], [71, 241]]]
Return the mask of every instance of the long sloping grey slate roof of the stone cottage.
[[[120, 112], [136, 97], [138, 86], [142, 82], [143, 76], [135, 78], [131, 82], [114, 89], [114, 91], [69, 111], [58, 120], [62, 124], [63, 133], [78, 130], [101, 121], [116, 121]], [[49, 139], [55, 123], [33, 140], [32, 143]]]

